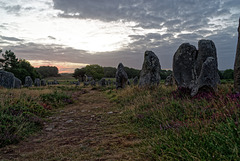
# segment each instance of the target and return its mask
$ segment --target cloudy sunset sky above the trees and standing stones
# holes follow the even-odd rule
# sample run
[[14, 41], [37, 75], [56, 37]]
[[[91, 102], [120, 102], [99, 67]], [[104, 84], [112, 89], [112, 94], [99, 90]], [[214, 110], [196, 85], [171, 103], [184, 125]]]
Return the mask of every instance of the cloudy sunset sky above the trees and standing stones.
[[182, 43], [216, 45], [218, 68], [233, 68], [240, 0], [0, 0], [0, 49], [61, 73], [88, 64], [141, 69], [153, 51], [172, 69]]

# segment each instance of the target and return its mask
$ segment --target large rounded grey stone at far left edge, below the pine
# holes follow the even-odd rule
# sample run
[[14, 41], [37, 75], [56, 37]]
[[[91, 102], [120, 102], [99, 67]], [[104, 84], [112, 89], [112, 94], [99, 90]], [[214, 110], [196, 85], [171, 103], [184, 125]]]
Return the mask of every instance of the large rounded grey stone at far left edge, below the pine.
[[15, 76], [11, 72], [0, 70], [0, 86], [5, 88], [14, 88]]

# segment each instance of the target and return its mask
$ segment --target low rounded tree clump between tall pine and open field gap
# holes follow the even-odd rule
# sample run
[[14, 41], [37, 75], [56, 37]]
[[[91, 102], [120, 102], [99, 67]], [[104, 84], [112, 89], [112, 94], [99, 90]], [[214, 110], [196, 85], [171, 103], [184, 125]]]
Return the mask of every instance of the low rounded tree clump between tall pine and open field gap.
[[60, 76], [58, 74], [58, 68], [55, 66], [40, 66], [39, 68], [36, 68], [36, 70], [42, 78]]

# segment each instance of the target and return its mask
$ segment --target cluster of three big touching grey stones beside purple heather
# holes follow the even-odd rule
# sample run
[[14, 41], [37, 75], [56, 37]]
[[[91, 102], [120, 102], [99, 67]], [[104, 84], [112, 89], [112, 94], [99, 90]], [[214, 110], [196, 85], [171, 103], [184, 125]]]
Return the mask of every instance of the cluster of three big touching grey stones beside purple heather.
[[211, 40], [200, 40], [198, 50], [189, 43], [182, 44], [173, 58], [173, 76], [179, 88], [188, 88], [194, 96], [200, 89], [217, 90], [217, 51]]

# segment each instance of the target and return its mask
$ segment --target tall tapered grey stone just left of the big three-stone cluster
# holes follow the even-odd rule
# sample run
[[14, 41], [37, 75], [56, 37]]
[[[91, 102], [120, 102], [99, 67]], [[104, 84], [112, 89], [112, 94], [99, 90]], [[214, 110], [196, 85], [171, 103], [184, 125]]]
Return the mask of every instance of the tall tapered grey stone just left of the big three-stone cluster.
[[140, 73], [139, 86], [153, 86], [160, 83], [161, 65], [158, 57], [152, 51], [146, 51]]

